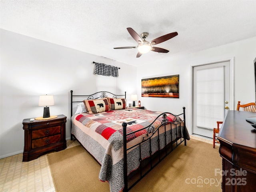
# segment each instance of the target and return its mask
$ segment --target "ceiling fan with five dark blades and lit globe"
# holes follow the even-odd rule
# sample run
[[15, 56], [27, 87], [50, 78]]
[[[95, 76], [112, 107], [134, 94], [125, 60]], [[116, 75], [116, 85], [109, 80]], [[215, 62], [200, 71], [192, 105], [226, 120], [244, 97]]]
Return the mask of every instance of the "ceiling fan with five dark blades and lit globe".
[[154, 45], [162, 43], [164, 41], [167, 41], [175, 36], [178, 35], [177, 32], [169, 33], [163, 36], [160, 36], [150, 42], [146, 41], [146, 37], [148, 36], [147, 32], [143, 32], [141, 36], [139, 36], [132, 28], [127, 28], [128, 32], [138, 42], [138, 45], [136, 47], [115, 47], [114, 49], [131, 49], [131, 48], [137, 48], [138, 54], [137, 58], [140, 57], [142, 54], [147, 53], [149, 51], [159, 52], [159, 53], [168, 53], [169, 51], [163, 48], [154, 47]]

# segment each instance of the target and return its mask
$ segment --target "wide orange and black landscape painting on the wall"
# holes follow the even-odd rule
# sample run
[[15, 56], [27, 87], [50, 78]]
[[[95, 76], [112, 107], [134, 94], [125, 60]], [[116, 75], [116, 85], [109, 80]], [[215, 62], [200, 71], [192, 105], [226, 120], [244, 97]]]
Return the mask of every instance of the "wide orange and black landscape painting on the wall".
[[179, 98], [179, 75], [142, 79], [141, 96]]

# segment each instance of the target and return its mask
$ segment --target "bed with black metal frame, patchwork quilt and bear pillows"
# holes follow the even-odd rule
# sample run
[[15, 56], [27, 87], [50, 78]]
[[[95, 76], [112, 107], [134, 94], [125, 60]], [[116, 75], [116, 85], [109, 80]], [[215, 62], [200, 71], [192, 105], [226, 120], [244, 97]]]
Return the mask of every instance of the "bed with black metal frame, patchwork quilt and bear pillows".
[[190, 139], [185, 107], [175, 115], [128, 108], [126, 92], [70, 93], [71, 140], [77, 139], [101, 165], [99, 179], [109, 183], [110, 192], [130, 190]]

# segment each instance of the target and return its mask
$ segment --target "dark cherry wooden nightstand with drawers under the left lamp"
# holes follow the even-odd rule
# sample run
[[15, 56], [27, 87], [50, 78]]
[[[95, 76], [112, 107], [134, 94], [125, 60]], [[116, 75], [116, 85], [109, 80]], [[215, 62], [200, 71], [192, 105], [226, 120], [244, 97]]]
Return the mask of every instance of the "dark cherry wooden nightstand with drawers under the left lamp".
[[46, 152], [64, 150], [66, 143], [66, 116], [50, 120], [24, 119], [24, 152], [22, 161], [31, 161]]

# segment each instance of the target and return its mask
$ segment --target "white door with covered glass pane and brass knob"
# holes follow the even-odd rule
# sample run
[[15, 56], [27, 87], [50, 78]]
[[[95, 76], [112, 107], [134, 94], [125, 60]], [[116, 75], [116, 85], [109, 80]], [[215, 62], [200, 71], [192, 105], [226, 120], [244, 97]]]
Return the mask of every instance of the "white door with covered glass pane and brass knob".
[[230, 108], [230, 61], [194, 66], [193, 134], [213, 138]]

